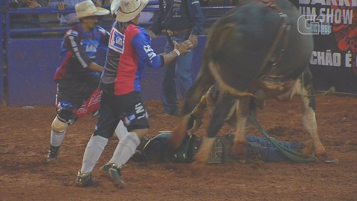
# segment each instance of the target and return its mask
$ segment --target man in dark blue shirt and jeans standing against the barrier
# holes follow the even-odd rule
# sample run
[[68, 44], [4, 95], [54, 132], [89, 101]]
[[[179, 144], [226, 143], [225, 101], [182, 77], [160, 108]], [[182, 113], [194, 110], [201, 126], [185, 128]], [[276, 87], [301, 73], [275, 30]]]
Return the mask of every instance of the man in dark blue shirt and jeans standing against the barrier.
[[[197, 35], [203, 31], [205, 17], [202, 14], [198, 0], [166, 0], [165, 12], [160, 12], [153, 25], [147, 30], [152, 38], [161, 33], [162, 27], [167, 32], [167, 43], [165, 53], [174, 49], [174, 43], [182, 43], [190, 40], [193, 48], [197, 46]], [[162, 68], [162, 103], [164, 104], [164, 115], [178, 115], [178, 104], [176, 94], [176, 81], [180, 88], [182, 97], [192, 86], [191, 63], [193, 52], [181, 55], [174, 62]]]

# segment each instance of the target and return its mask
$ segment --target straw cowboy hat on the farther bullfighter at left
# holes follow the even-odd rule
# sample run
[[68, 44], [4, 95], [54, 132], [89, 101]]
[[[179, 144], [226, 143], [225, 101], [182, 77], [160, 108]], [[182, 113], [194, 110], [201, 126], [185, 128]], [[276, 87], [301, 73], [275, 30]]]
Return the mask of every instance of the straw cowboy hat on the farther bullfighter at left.
[[74, 6], [74, 8], [76, 9], [76, 16], [69, 20], [69, 23], [88, 16], [107, 15], [110, 13], [107, 9], [95, 7], [91, 0], [78, 3]]

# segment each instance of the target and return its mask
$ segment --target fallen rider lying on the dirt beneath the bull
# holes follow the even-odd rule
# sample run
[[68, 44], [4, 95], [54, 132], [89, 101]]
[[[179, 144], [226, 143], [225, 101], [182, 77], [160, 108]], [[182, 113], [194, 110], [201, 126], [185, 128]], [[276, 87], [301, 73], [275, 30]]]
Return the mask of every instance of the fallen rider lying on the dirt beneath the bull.
[[[165, 152], [166, 141], [171, 135], [171, 131], [161, 131], [160, 134], [151, 138], [145, 145], [143, 153], [147, 158], [162, 156]], [[208, 164], [232, 162], [234, 159], [230, 156], [230, 148], [233, 144], [234, 135], [225, 135], [217, 137]], [[289, 160], [281, 151], [275, 148], [269, 141], [263, 137], [246, 136], [248, 141], [248, 157], [259, 158], [264, 162], [278, 162]], [[171, 162], [190, 163], [193, 162], [193, 157], [198, 152], [203, 141], [202, 137], [197, 137], [195, 134], [187, 135], [182, 145], [174, 152], [167, 153], [167, 157]], [[292, 149], [296, 152], [301, 152], [304, 148], [303, 142], [279, 142], [282, 146]]]

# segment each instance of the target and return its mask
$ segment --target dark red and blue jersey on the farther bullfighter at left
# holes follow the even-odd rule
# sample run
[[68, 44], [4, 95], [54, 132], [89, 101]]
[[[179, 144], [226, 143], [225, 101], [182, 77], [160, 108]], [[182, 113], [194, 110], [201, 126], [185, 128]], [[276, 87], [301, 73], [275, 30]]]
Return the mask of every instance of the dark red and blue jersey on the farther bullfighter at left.
[[90, 32], [83, 30], [80, 24], [69, 29], [61, 44], [61, 65], [55, 73], [55, 81], [63, 79], [91, 79], [99, 77], [87, 67], [95, 61], [97, 50], [107, 50], [109, 33], [95, 26]]

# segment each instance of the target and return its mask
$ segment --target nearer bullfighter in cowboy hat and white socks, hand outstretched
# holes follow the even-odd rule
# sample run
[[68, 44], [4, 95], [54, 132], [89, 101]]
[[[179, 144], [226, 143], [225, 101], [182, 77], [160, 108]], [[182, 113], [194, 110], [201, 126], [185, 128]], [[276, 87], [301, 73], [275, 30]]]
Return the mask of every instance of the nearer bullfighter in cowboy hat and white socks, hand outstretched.
[[140, 12], [149, 0], [114, 0], [111, 13], [116, 19], [110, 31], [105, 68], [101, 76], [99, 116], [93, 135], [87, 143], [76, 186], [94, 183], [92, 171], [115, 128], [122, 122], [127, 133], [120, 138], [112, 158], [101, 167], [101, 172], [115, 186], [124, 188], [120, 168], [125, 165], [149, 131], [149, 116], [141, 99], [140, 79], [145, 67], [161, 68], [179, 55], [191, 52], [189, 40], [177, 44], [169, 53], [157, 55], [151, 39], [138, 26]]

